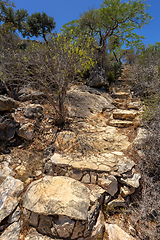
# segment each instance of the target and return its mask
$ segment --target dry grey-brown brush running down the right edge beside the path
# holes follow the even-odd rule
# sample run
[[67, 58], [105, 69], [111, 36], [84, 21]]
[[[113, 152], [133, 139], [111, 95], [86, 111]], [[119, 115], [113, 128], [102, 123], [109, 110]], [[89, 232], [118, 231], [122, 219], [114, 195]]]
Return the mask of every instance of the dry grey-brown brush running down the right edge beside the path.
[[[143, 125], [148, 137], [141, 144], [138, 167], [142, 189], [131, 207], [131, 222], [139, 239], [160, 239], [160, 48], [143, 50], [134, 67], [136, 95], [144, 103]], [[140, 88], [141, 90], [138, 91]]]

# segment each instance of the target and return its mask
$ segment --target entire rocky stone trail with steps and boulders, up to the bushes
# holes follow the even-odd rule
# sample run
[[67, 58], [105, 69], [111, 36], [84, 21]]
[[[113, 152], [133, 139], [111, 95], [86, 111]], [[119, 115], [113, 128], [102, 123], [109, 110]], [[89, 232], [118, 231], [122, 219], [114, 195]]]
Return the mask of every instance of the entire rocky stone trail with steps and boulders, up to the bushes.
[[145, 133], [131, 85], [123, 74], [110, 94], [72, 86], [63, 129], [30, 99], [40, 93], [22, 91], [18, 104], [1, 96], [0, 240], [136, 239], [104, 214], [125, 208], [140, 185], [134, 146]]

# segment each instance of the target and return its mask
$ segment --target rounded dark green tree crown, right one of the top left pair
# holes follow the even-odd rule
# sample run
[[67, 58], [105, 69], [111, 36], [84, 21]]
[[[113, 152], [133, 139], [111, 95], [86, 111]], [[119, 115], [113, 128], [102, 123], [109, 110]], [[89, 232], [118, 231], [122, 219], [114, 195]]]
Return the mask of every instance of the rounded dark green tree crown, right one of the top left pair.
[[42, 36], [45, 42], [47, 42], [46, 34], [51, 33], [54, 28], [55, 22], [53, 17], [49, 17], [44, 12], [33, 13], [27, 18], [23, 36]]

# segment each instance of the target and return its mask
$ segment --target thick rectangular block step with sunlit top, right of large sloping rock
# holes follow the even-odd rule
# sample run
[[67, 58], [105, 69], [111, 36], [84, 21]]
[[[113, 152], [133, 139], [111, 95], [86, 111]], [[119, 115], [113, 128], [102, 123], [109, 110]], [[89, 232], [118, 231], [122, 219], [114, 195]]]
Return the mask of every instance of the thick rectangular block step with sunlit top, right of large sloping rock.
[[136, 116], [137, 116], [137, 111], [135, 110], [123, 110], [123, 109], [113, 110], [114, 119], [133, 120]]

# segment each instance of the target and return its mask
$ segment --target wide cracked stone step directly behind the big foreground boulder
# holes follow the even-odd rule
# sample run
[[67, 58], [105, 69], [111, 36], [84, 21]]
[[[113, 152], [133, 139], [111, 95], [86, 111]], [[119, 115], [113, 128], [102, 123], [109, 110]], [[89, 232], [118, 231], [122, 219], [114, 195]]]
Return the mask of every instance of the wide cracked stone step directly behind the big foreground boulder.
[[45, 164], [44, 173], [51, 176], [67, 176], [86, 184], [97, 184], [103, 187], [100, 184], [103, 175], [120, 176], [123, 171], [130, 171], [134, 165], [134, 162], [126, 159], [122, 152], [81, 157], [54, 153]]

